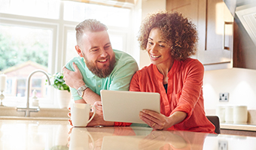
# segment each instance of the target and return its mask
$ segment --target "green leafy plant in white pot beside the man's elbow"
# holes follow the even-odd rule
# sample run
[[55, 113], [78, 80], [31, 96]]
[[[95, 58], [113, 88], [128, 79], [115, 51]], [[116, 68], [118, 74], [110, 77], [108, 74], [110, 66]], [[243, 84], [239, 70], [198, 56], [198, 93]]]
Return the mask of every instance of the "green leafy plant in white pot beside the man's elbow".
[[66, 85], [65, 81], [63, 80], [63, 74], [59, 72], [53, 74], [50, 77], [50, 80], [51, 86], [53, 86], [55, 89], [58, 89], [56, 94], [59, 107], [68, 108], [72, 95], [69, 86]]

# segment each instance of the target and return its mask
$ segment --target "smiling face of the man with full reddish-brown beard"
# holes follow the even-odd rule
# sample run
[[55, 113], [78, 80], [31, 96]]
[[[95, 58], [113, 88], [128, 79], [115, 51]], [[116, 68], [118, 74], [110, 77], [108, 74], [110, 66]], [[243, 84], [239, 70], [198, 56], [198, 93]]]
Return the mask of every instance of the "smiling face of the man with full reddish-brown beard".
[[81, 37], [79, 46], [75, 46], [78, 55], [93, 74], [100, 78], [108, 77], [114, 68], [115, 55], [107, 31], [87, 31]]

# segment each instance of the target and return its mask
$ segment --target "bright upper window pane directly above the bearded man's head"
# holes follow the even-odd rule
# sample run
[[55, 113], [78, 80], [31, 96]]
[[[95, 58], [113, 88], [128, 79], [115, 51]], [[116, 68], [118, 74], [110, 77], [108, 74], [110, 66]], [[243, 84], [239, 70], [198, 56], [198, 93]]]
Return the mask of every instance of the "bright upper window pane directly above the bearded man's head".
[[130, 9], [65, 1], [64, 20], [78, 21], [94, 18], [107, 26], [130, 26]]

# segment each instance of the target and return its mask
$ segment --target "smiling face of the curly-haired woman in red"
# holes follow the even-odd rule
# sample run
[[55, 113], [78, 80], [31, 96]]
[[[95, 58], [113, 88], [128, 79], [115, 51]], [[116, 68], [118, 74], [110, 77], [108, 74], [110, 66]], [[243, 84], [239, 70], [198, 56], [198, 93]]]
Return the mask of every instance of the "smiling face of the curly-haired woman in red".
[[148, 36], [146, 48], [151, 63], [157, 66], [170, 67], [172, 65], [172, 55], [170, 46], [161, 38], [160, 29], [152, 28]]

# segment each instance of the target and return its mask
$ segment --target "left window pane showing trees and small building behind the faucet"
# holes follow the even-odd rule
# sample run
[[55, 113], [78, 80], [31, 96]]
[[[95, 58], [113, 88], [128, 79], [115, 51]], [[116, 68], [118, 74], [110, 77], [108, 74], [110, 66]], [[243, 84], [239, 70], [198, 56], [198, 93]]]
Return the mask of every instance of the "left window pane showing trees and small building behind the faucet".
[[[4, 101], [13, 103], [14, 107], [17, 98], [21, 98], [19, 105], [26, 104], [26, 79], [30, 72], [35, 69], [47, 71], [49, 52], [53, 45], [52, 28], [44, 28], [39, 24], [21, 26], [21, 23], [2, 20], [0, 25], [0, 70], [8, 76]], [[32, 84], [35, 84], [35, 77], [38, 78], [38, 74], [32, 77]], [[38, 98], [47, 98], [47, 93], [41, 95], [42, 91], [46, 91], [45, 86], [36, 90]]]

